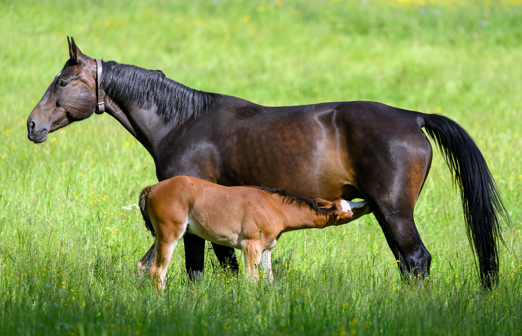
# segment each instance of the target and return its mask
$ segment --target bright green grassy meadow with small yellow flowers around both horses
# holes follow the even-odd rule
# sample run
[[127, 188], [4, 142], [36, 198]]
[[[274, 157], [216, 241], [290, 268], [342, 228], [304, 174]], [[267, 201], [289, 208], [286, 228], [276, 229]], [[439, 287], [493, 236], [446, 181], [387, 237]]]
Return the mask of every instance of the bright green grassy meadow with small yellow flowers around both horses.
[[[0, 334], [522, 332], [520, 1], [2, 0], [0, 34]], [[499, 282], [480, 287], [435, 153], [415, 212], [429, 281], [400, 280], [367, 215], [283, 235], [274, 284], [223, 272], [208, 243], [204, 277], [189, 283], [180, 244], [157, 294], [135, 269], [152, 243], [133, 206], [157, 182], [145, 149], [106, 114], [27, 140], [67, 35], [91, 57], [258, 104], [372, 100], [455, 119], [511, 214]]]

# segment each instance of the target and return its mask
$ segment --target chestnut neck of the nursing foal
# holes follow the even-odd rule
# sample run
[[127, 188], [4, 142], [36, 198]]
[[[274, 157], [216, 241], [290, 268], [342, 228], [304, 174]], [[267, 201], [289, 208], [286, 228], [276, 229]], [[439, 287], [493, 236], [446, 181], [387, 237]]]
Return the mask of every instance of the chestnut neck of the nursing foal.
[[283, 232], [301, 229], [323, 229], [330, 221], [330, 215], [318, 213], [310, 206], [296, 202], [287, 204], [283, 200], [281, 211], [286, 217]]

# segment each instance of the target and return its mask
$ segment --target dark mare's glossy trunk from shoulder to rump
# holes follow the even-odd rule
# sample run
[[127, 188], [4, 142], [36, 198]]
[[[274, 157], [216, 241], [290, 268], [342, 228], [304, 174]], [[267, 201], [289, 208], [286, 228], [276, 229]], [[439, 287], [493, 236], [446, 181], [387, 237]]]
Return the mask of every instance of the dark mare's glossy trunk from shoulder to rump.
[[270, 107], [224, 96], [208, 115], [165, 137], [158, 178], [190, 175], [302, 198], [361, 197], [369, 167], [393, 169], [394, 155], [418, 155], [419, 143], [428, 151], [419, 115], [374, 102]]

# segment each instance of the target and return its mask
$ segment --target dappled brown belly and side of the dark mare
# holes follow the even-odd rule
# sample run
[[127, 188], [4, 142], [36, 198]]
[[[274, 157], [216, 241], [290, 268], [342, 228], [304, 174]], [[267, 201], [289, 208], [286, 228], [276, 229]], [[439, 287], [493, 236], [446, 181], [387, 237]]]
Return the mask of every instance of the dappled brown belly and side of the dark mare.
[[333, 122], [334, 113], [229, 134], [218, 183], [283, 188], [302, 198], [340, 197], [352, 174], [346, 136]]

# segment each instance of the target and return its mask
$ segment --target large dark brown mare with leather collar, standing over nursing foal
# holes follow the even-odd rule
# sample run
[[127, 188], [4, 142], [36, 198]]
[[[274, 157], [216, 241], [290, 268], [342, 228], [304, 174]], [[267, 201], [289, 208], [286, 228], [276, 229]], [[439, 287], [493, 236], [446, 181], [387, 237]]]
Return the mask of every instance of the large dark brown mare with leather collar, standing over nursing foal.
[[[366, 101], [267, 107], [188, 88], [161, 71], [112, 61], [97, 67], [74, 41], [69, 56], [29, 115], [29, 140], [43, 142], [104, 103], [152, 155], [159, 181], [188, 175], [282, 188], [306, 199], [367, 200], [405, 277], [430, 271], [431, 255], [413, 220], [433, 155], [424, 127], [460, 189], [481, 280], [487, 286], [494, 280], [499, 221], [507, 214], [480, 150], [451, 119]], [[184, 242], [194, 275], [203, 270], [205, 242], [195, 235]], [[221, 263], [237, 265], [233, 249], [213, 247]], [[144, 257], [148, 265], [153, 254], [155, 245]]]

